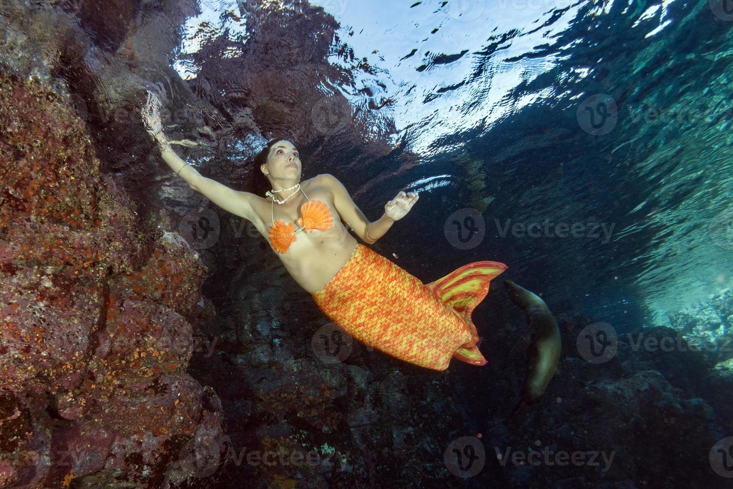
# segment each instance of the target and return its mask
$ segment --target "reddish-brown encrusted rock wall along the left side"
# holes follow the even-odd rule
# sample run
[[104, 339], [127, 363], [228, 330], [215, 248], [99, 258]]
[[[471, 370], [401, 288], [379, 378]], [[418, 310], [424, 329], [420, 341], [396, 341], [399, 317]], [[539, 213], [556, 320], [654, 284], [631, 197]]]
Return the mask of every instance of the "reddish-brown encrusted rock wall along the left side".
[[205, 267], [141, 221], [50, 89], [0, 75], [0, 131], [1, 485], [180, 482], [182, 447], [221, 436], [185, 373]]

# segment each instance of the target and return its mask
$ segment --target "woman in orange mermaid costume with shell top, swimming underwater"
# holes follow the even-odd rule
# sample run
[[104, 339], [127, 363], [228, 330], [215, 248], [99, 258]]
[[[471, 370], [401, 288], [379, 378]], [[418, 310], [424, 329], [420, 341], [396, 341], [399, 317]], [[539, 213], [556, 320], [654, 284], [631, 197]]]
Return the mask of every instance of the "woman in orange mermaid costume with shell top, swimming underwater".
[[369, 221], [345, 186], [331, 174], [301, 182], [300, 154], [287, 139], [273, 139], [257, 155], [270, 183], [265, 198], [235, 191], [203, 177], [179, 158], [163, 133], [158, 95], [148, 92], [143, 119], [160, 144], [163, 160], [194, 190], [224, 210], [251, 221], [295, 282], [324, 314], [354, 339], [397, 359], [445, 370], [452, 358], [487, 363], [477, 343], [473, 312], [502, 273], [503, 263], [472, 262], [423, 284], [386, 257], [358, 243], [373, 244], [404, 218], [419, 199], [400, 191]]

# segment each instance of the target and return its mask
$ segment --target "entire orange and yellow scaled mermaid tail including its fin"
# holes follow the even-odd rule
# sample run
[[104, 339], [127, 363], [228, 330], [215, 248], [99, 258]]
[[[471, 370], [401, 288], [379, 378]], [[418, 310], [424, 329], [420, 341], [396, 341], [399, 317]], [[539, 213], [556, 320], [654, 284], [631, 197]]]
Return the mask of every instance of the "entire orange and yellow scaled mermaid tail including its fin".
[[364, 345], [428, 369], [445, 370], [452, 358], [478, 366], [487, 362], [476, 345], [471, 312], [506, 269], [500, 262], [472, 262], [423, 284], [357, 243], [342, 269], [311, 295], [329, 319]]

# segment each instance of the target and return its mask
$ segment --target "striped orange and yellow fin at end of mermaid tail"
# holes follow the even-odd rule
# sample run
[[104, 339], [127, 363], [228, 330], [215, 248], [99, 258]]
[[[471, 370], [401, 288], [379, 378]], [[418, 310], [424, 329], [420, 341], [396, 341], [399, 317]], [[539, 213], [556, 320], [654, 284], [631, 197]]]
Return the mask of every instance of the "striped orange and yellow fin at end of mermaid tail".
[[[442, 279], [425, 284], [441, 301], [455, 309], [460, 317], [463, 317], [468, 327], [471, 328], [474, 344], [464, 345], [465, 348], [461, 348], [457, 353], [470, 357], [471, 346], [476, 348], [475, 344], [479, 341], [479, 333], [471, 320], [471, 313], [489, 293], [489, 282], [505, 270], [507, 270], [507, 265], [504, 265], [504, 263], [473, 262], [457, 268]], [[465, 351], [463, 351], [464, 349]], [[478, 348], [476, 348], [477, 350]], [[456, 358], [460, 359], [460, 356], [456, 356]], [[469, 361], [468, 363], [473, 362]]]

